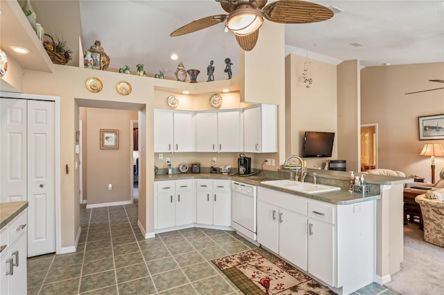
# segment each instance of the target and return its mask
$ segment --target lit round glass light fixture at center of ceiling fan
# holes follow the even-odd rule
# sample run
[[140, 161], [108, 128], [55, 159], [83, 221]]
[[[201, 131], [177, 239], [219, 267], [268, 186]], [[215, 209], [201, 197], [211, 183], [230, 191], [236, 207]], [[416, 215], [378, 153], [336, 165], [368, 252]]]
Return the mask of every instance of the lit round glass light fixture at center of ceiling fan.
[[259, 29], [264, 19], [259, 10], [242, 8], [234, 10], [227, 19], [227, 27], [236, 35], [249, 35]]

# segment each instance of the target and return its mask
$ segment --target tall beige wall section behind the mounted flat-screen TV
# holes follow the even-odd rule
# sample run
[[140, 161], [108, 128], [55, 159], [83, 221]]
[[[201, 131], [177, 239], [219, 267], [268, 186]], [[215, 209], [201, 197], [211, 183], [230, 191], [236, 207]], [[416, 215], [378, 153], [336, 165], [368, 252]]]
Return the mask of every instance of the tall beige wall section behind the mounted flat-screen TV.
[[[313, 84], [307, 88], [302, 80], [305, 57], [287, 55], [285, 57], [285, 154], [302, 157], [302, 141], [305, 131], [335, 132], [332, 158], [337, 159], [337, 96], [336, 66], [311, 60]], [[322, 167], [326, 159], [307, 159], [307, 166]]]

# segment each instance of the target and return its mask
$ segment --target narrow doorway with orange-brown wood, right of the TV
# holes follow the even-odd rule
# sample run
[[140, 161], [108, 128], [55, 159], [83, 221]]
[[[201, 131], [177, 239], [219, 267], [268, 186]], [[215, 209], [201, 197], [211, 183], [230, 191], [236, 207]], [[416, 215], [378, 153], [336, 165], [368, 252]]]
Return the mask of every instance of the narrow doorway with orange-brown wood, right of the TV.
[[377, 123], [361, 125], [361, 172], [377, 168]]

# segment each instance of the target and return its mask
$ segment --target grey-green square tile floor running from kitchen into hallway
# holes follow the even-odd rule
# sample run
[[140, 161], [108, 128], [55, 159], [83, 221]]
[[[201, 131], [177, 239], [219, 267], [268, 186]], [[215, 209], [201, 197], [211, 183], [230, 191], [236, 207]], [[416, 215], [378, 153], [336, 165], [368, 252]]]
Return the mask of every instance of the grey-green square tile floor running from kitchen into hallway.
[[[191, 228], [144, 240], [137, 203], [80, 209], [76, 253], [28, 258], [28, 294], [241, 294], [211, 262], [255, 248], [233, 231]], [[395, 294], [370, 284], [355, 295]]]

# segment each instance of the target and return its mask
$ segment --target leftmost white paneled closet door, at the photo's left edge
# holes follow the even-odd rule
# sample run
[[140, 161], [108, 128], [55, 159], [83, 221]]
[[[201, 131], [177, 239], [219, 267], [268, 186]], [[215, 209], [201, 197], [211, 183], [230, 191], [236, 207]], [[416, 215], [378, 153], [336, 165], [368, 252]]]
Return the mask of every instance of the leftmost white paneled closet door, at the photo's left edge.
[[1, 202], [26, 201], [26, 100], [1, 98]]

